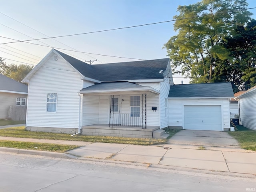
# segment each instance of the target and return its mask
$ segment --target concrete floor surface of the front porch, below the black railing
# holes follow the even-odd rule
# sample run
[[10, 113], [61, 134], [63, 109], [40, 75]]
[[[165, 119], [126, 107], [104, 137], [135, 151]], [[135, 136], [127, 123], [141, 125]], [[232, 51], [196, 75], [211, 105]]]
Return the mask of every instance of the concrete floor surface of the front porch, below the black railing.
[[146, 129], [142, 129], [141, 126], [139, 127], [131, 127], [131, 126], [113, 126], [109, 124], [94, 124], [94, 125], [86, 125], [82, 126], [82, 128], [95, 128], [95, 129], [116, 129], [116, 130], [145, 130], [145, 131], [154, 131], [160, 129], [159, 126], [147, 126]]

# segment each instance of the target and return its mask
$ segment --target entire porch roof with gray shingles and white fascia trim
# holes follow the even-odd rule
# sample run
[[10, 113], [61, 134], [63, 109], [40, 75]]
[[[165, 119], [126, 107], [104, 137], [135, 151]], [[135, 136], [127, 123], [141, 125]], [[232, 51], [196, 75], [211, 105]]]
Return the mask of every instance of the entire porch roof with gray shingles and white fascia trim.
[[110, 92], [138, 92], [148, 91], [154, 94], [160, 94], [160, 92], [152, 87], [142, 86], [130, 82], [102, 82], [90, 87], [86, 87], [80, 90], [81, 94], [84, 93], [110, 93]]

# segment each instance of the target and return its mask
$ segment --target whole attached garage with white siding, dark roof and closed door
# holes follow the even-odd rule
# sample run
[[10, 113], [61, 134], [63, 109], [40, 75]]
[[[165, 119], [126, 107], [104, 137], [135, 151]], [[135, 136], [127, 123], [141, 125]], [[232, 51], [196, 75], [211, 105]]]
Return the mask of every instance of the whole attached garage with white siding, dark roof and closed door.
[[188, 130], [229, 130], [232, 97], [230, 83], [171, 86], [168, 126]]

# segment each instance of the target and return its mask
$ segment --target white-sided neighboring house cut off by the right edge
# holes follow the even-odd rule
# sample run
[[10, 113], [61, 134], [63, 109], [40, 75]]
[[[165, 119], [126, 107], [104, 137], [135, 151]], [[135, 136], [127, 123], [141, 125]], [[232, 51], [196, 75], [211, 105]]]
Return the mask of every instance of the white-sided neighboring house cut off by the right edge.
[[235, 98], [239, 106], [239, 123], [256, 130], [256, 86]]

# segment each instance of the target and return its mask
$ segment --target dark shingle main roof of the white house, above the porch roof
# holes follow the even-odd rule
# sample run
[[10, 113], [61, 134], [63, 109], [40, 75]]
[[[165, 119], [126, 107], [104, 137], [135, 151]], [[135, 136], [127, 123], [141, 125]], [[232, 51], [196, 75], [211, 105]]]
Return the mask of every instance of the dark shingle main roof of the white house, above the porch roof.
[[89, 65], [55, 50], [82, 75], [99, 81], [125, 81], [136, 79], [162, 79], [160, 70], [166, 70], [169, 58], [132, 62]]

